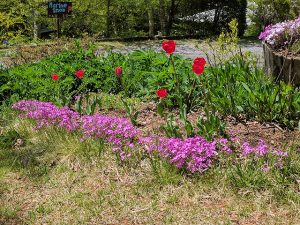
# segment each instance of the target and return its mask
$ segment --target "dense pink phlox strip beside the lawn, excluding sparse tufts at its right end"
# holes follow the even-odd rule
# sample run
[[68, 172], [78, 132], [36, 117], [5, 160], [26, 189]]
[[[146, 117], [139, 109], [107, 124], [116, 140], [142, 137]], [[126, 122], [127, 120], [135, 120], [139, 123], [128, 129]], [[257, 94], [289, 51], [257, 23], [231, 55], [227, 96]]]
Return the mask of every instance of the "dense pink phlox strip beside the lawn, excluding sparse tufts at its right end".
[[[178, 168], [186, 168], [190, 172], [206, 170], [216, 155], [215, 143], [210, 143], [202, 137], [188, 138], [159, 138], [142, 137], [126, 118], [92, 115], [80, 117], [77, 112], [68, 108], [58, 108], [52, 103], [39, 101], [20, 101], [13, 108], [23, 112], [23, 116], [34, 119], [37, 128], [59, 126], [68, 131], [80, 130], [83, 139], [102, 138], [114, 147], [122, 160], [130, 157], [124, 148], [134, 149], [138, 144], [153, 148], [162, 157], [168, 158]], [[151, 151], [148, 151], [151, 153]]]

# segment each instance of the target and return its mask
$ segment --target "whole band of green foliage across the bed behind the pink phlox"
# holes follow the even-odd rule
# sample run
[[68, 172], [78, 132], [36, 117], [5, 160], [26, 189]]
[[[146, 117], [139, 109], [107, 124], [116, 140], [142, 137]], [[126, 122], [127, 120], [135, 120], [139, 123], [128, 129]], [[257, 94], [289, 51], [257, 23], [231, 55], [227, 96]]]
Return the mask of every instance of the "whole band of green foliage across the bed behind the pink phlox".
[[[232, 30], [236, 25], [232, 23]], [[229, 55], [231, 49], [227, 48], [227, 37], [235, 39], [236, 32], [231, 36], [224, 34], [224, 40], [220, 41], [220, 46], [225, 43], [222, 47], [224, 55]], [[298, 125], [299, 90], [285, 83], [274, 83], [262, 69], [256, 67], [256, 61], [248, 53], [233, 52], [231, 57], [215, 63], [210, 59], [211, 67], [207, 67], [201, 77], [192, 72], [191, 60], [178, 56], [172, 57], [172, 60], [176, 65], [175, 74], [165, 53], [141, 50], [127, 55], [111, 51], [96, 55], [94, 46], [88, 50], [78, 46], [74, 51], [65, 50], [39, 63], [2, 70], [0, 100], [12, 103], [20, 99], [37, 99], [68, 105], [75, 96], [101, 92], [157, 101], [156, 90], [164, 87], [168, 90], [168, 97], [158, 105], [158, 109], [179, 106], [182, 109], [184, 104], [180, 105], [180, 102], [186, 104], [188, 99], [186, 113], [205, 105], [208, 114], [278, 122], [290, 128]], [[121, 77], [114, 72], [117, 66], [123, 68]], [[85, 71], [83, 79], [74, 76], [78, 69]], [[51, 79], [53, 73], [60, 76], [58, 81]], [[88, 105], [92, 113], [94, 103]], [[134, 121], [137, 117], [135, 110], [129, 107], [128, 113]], [[182, 115], [183, 112], [181, 120], [187, 135], [192, 136], [194, 131]]]

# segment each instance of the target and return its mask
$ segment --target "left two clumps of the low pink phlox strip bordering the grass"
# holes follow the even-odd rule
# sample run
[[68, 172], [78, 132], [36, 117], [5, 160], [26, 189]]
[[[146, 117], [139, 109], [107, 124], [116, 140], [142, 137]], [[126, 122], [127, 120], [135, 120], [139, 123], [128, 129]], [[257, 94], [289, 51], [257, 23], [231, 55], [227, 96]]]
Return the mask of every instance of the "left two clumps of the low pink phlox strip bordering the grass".
[[[133, 148], [139, 131], [125, 118], [93, 115], [82, 116], [71, 109], [58, 108], [50, 102], [23, 100], [13, 105], [13, 109], [23, 112], [23, 116], [34, 119], [37, 129], [47, 126], [58, 126], [72, 132], [80, 130], [83, 139], [103, 138], [114, 145], [121, 157], [124, 147]], [[124, 157], [123, 157], [124, 158]]]

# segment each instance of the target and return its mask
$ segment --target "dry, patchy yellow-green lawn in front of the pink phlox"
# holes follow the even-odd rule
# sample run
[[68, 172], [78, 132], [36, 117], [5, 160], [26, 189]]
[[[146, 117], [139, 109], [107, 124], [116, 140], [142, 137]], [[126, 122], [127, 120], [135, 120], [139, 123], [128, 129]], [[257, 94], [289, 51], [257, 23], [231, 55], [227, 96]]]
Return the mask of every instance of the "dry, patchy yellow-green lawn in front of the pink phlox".
[[4, 116], [2, 136], [23, 142], [0, 148], [0, 224], [300, 223], [294, 197], [234, 189], [218, 169], [190, 177], [165, 162], [155, 173], [148, 159], [121, 165], [110, 146], [99, 156], [96, 141]]

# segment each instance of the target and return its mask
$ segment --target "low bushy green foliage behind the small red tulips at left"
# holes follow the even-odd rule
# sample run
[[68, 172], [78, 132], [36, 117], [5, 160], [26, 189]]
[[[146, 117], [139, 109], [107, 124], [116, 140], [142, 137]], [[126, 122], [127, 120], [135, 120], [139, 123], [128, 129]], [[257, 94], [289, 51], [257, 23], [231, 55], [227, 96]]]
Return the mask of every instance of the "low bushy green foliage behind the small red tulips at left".
[[[190, 60], [175, 57], [178, 73], [184, 83], [190, 74]], [[178, 62], [178, 63], [177, 63]], [[69, 100], [80, 92], [123, 93], [125, 96], [154, 96], [157, 87], [171, 87], [169, 59], [165, 54], [153, 51], [135, 51], [129, 55], [107, 52], [96, 55], [91, 47], [83, 50], [63, 51], [39, 63], [17, 66], [0, 73], [0, 100], [11, 97], [17, 99], [39, 99], [57, 101], [57, 97]], [[114, 69], [124, 68], [119, 80]], [[84, 79], [77, 79], [74, 72], [85, 71]], [[58, 74], [60, 79], [54, 82], [51, 74]], [[188, 93], [188, 86], [182, 90]], [[171, 88], [170, 88], [171, 89]]]

